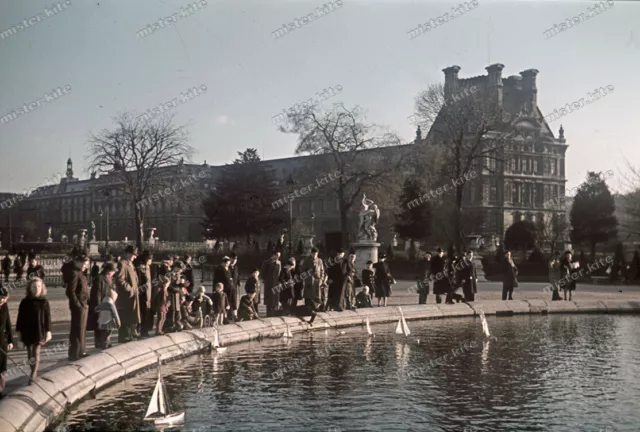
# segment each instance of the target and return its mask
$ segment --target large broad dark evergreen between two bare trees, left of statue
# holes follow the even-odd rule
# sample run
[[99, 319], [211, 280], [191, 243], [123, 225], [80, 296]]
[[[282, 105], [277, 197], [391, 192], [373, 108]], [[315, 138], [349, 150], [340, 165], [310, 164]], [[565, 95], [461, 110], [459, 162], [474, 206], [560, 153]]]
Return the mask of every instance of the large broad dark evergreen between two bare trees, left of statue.
[[260, 162], [235, 163], [203, 202], [204, 226], [212, 238], [261, 235], [284, 221], [274, 178]]

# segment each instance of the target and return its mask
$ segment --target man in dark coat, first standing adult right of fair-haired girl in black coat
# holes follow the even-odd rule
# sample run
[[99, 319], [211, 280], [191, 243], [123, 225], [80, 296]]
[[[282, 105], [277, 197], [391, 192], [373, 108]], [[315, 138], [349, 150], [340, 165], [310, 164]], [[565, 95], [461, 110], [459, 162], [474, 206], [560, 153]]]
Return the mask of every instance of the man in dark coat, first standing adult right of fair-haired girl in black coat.
[[86, 357], [85, 341], [87, 333], [87, 313], [89, 310], [89, 287], [84, 271], [89, 267], [89, 258], [79, 254], [72, 261], [74, 270], [67, 284], [67, 297], [71, 311], [71, 332], [69, 334], [69, 360]]

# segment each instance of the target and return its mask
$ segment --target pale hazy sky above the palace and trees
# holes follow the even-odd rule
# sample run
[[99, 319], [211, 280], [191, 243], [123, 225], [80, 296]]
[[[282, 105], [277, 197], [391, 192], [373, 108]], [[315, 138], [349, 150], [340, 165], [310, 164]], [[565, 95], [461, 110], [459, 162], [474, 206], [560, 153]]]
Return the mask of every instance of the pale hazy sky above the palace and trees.
[[[587, 171], [613, 171], [608, 183], [620, 190], [625, 160], [640, 166], [640, 2], [600, 2], [600, 14], [546, 38], [545, 30], [596, 3], [477, 0], [411, 39], [411, 29], [460, 1], [338, 0], [317, 19], [272, 35], [328, 3], [0, 0], [0, 117], [41, 99], [0, 123], [0, 192], [64, 175], [68, 157], [75, 175], [87, 178], [92, 133], [193, 88], [200, 90], [170, 112], [188, 127], [195, 163], [228, 163], [248, 147], [263, 159], [292, 156], [296, 136], [279, 132], [272, 117], [325, 89], [332, 94], [325, 106], [359, 105], [366, 122], [409, 142], [414, 98], [443, 82], [443, 68], [459, 65], [468, 78], [493, 63], [505, 65], [503, 77], [540, 71], [544, 115], [613, 86], [550, 125], [556, 136], [560, 124], [565, 129], [568, 188]], [[139, 36], [174, 14], [176, 22]]]

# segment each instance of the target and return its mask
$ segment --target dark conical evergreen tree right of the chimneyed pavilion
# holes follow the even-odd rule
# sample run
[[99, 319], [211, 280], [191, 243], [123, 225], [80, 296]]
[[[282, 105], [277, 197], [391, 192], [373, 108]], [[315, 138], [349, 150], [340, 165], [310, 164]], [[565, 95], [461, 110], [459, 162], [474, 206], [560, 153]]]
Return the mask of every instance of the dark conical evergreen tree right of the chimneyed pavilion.
[[588, 172], [571, 207], [571, 242], [588, 244], [595, 260], [596, 244], [616, 238], [618, 220], [615, 203], [601, 173]]

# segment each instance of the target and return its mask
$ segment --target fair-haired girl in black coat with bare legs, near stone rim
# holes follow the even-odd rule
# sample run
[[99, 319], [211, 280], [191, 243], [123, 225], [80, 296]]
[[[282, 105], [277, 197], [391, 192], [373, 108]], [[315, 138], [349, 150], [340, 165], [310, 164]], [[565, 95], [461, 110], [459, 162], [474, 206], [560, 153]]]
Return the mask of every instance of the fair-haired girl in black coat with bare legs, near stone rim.
[[27, 295], [20, 302], [16, 330], [27, 348], [27, 358], [31, 367], [29, 385], [38, 375], [40, 348], [51, 340], [51, 311], [49, 302], [42, 296], [44, 283], [34, 277], [27, 285]]

